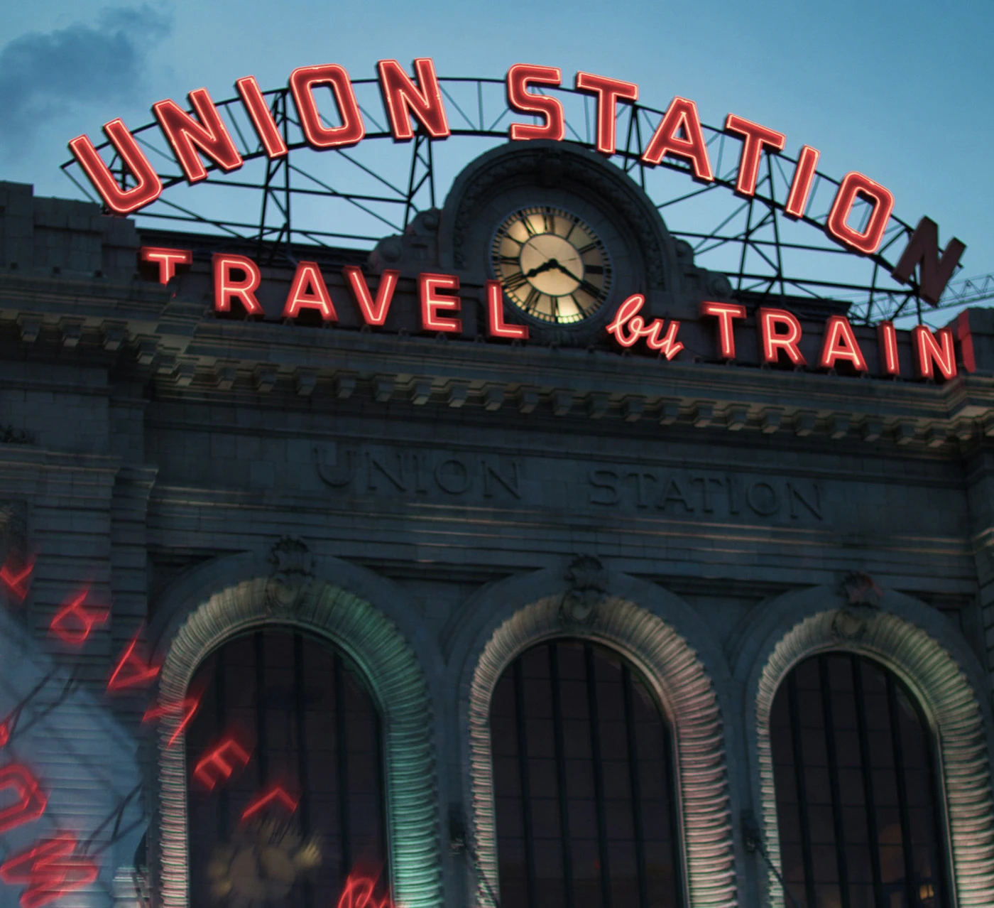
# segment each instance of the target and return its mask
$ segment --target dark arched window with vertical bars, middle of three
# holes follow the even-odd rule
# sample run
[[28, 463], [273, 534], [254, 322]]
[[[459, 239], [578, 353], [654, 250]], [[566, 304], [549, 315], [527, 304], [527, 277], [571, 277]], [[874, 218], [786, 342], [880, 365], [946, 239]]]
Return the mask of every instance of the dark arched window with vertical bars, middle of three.
[[534, 646], [501, 675], [490, 731], [502, 905], [682, 904], [669, 727], [624, 659]]

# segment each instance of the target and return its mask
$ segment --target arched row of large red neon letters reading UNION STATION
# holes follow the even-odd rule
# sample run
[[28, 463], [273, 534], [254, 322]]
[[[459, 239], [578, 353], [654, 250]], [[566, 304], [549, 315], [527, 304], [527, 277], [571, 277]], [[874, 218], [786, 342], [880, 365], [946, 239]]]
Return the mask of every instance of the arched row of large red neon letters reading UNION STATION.
[[[390, 132], [395, 141], [413, 139], [415, 126], [433, 140], [443, 140], [451, 134], [444, 96], [430, 58], [414, 60], [412, 74], [396, 60], [381, 60], [377, 63], [377, 74]], [[542, 93], [543, 90], [562, 86], [563, 72], [558, 67], [515, 64], [508, 70], [505, 77], [508, 107], [519, 113], [531, 114], [539, 120], [533, 123], [512, 122], [508, 127], [511, 141], [565, 140], [563, 103], [552, 94]], [[635, 102], [639, 96], [638, 86], [580, 71], [576, 74], [574, 87], [576, 91], [594, 98], [597, 151], [606, 156], [614, 154], [617, 105]], [[235, 88], [267, 158], [274, 160], [287, 155], [286, 140], [280, 134], [254, 77], [237, 80]], [[319, 89], [330, 91], [335, 107], [331, 119], [337, 118], [340, 125], [328, 125], [329, 119], [318, 110], [315, 92]], [[363, 111], [344, 67], [338, 64], [300, 67], [290, 74], [289, 91], [296, 108], [296, 120], [309, 147], [316, 150], [346, 148], [358, 144], [366, 136]], [[206, 89], [196, 89], [189, 92], [187, 100], [191, 108], [189, 112], [168, 98], [152, 105], [158, 126], [187, 182], [193, 184], [206, 179], [209, 166], [226, 173], [242, 167], [243, 157], [210, 93]], [[786, 147], [786, 135], [735, 113], [728, 114], [724, 129], [743, 143], [735, 191], [751, 198], [756, 192], [763, 152], [782, 151]], [[125, 181], [123, 185], [100, 157], [88, 136], [79, 135], [72, 139], [70, 150], [108, 211], [118, 215], [140, 211], [159, 198], [163, 191], [162, 180], [121, 119], [105, 123], [103, 132], [120, 159], [121, 180]], [[686, 164], [693, 179], [699, 182], [707, 184], [715, 180], [701, 117], [697, 104], [690, 98], [673, 98], [640, 151], [641, 162], [649, 166], [661, 164], [664, 158]], [[801, 146], [783, 206], [788, 217], [804, 217], [814, 186], [818, 158], [816, 148], [807, 144]], [[851, 221], [859, 201], [867, 203], [870, 211], [861, 226], [854, 226]], [[836, 191], [824, 225], [825, 232], [852, 252], [873, 255], [884, 241], [894, 204], [894, 195], [885, 186], [863, 173], [850, 171], [842, 178]], [[955, 271], [964, 249], [962, 243], [953, 239], [940, 254], [937, 228], [934, 222], [922, 218], [892, 274], [908, 283], [914, 269], [920, 266], [921, 298], [934, 304]], [[162, 275], [168, 275], [176, 262], [181, 261], [156, 259], [154, 252], [149, 255], [146, 261], [157, 261]], [[250, 270], [246, 272], [245, 279], [250, 281]], [[234, 286], [231, 291], [241, 292], [243, 299], [251, 293], [248, 286]], [[320, 292], [316, 285], [313, 292], [315, 295]]]

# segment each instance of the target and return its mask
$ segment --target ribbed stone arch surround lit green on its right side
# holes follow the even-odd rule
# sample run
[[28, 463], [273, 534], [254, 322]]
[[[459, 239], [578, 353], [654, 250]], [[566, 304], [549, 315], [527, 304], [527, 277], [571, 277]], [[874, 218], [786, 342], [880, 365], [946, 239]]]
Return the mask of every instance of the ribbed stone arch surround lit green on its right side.
[[[310, 562], [298, 557], [299, 547], [284, 548], [292, 557], [277, 560], [272, 577], [216, 593], [190, 614], [162, 665], [160, 705], [182, 700], [198, 665], [223, 642], [249, 630], [284, 627], [340, 646], [365, 672], [383, 716], [395, 897], [406, 908], [437, 908], [442, 904], [441, 851], [431, 714], [414, 651], [369, 602], [311, 579]], [[279, 595], [274, 597], [274, 590]], [[186, 755], [182, 739], [168, 746], [178, 718], [163, 717], [157, 740], [163, 908], [189, 906]]]

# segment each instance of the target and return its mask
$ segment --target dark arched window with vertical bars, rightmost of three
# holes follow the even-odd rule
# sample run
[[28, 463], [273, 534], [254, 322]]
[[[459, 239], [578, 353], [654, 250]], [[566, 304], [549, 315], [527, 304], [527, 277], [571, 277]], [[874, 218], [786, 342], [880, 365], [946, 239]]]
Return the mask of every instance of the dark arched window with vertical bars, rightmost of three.
[[805, 659], [778, 688], [769, 726], [780, 858], [796, 902], [947, 906], [932, 738], [893, 672], [850, 653]]

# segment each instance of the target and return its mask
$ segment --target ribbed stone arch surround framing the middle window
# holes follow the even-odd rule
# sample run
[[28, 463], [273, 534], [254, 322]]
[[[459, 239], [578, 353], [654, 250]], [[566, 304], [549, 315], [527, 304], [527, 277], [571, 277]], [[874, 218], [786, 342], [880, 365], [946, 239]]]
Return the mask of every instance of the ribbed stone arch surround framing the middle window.
[[479, 861], [477, 904], [494, 904], [497, 831], [490, 750], [490, 699], [504, 669], [522, 651], [557, 636], [582, 636], [624, 653], [655, 688], [676, 744], [677, 801], [688, 904], [738, 904], [725, 739], [718, 699], [697, 653], [669, 625], [633, 603], [604, 596], [584, 614], [582, 630], [564, 623], [564, 595], [516, 612], [490, 637], [469, 690], [472, 831]]

